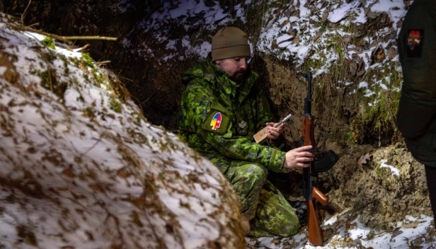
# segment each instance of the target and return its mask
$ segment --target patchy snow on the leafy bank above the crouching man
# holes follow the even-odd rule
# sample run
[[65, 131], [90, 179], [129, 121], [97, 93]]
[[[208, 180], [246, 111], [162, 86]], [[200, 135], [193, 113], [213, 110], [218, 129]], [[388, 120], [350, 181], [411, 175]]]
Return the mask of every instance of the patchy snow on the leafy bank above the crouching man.
[[[185, 30], [192, 27], [201, 27], [203, 30], [213, 32], [217, 28], [233, 24], [235, 21], [245, 23], [246, 17], [242, 9], [248, 3], [262, 4], [256, 1], [245, 1], [240, 6], [235, 6], [235, 12], [230, 12], [220, 8], [217, 2], [215, 2], [215, 6], [207, 7], [203, 1], [180, 0], [176, 8], [168, 10], [169, 6], [166, 6], [154, 12], [152, 21], [149, 21], [145, 27], [147, 30], [156, 30], [154, 35], [162, 37], [161, 39], [164, 39], [164, 37], [170, 39], [167, 49], [168, 51], [174, 51], [174, 53], [169, 52], [163, 58], [163, 61], [170, 63], [171, 60], [174, 60], [174, 62], [178, 63], [190, 57], [203, 58], [210, 51], [210, 41], [206, 40], [198, 43], [198, 39], [183, 38], [177, 40], [177, 37], [167, 37], [165, 24], [176, 21], [177, 24], [189, 24], [185, 26]], [[399, 22], [406, 15], [405, 7], [402, 0], [353, 0], [349, 1], [349, 3], [347, 1], [291, 1], [290, 3], [284, 3], [280, 8], [265, 10], [264, 25], [258, 37], [259, 39], [256, 40], [257, 42], [251, 44], [251, 50], [252, 53], [266, 53], [278, 59], [294, 62], [296, 70], [301, 70], [305, 64], [308, 64], [307, 61], [311, 60], [320, 65], [320, 68], [311, 68], [316, 71], [314, 80], [323, 77], [323, 75], [328, 75], [338, 65], [335, 62], [340, 60], [344, 63], [358, 60], [363, 64], [362, 70], [364, 73], [374, 71], [376, 67], [373, 66], [372, 54], [377, 48], [381, 47], [385, 51], [388, 48], [397, 50], [395, 39], [381, 42], [381, 37], [399, 33], [398, 27], [401, 26]], [[290, 12], [291, 10], [298, 11]], [[201, 15], [195, 13], [201, 13], [203, 17], [199, 18], [199, 21], [189, 22], [189, 19], [194, 20], [201, 17]], [[372, 13], [372, 17], [367, 16], [370, 15], [369, 13]], [[375, 35], [373, 37], [359, 37], [362, 42], [367, 44], [365, 50], [361, 50], [351, 42], [346, 42], [346, 50], [344, 51], [337, 50], [337, 46], [331, 46], [335, 43], [344, 42], [347, 39], [346, 37], [358, 36], [359, 32], [355, 30], [355, 27], [363, 26], [367, 21], [373, 21], [372, 18], [382, 15], [382, 13], [385, 13], [383, 15], [386, 15], [388, 21], [392, 23], [393, 30], [381, 28], [381, 30], [374, 30]], [[179, 19], [176, 19], [176, 17], [179, 17]], [[144, 21], [144, 23], [146, 22]], [[336, 26], [330, 28], [329, 23]], [[291, 30], [296, 30], [296, 35], [291, 35]], [[194, 32], [194, 36], [200, 34], [201, 32]], [[252, 40], [255, 37], [250, 38]], [[180, 50], [176, 48], [177, 44], [179, 46], [182, 44], [184, 54], [181, 54]], [[148, 51], [148, 53], [152, 53], [152, 51]], [[396, 55], [394, 57], [386, 56], [376, 64], [381, 63], [386, 67], [392, 66], [391, 73], [394, 73], [393, 68], [397, 67], [398, 62], [398, 55]], [[396, 72], [401, 73], [401, 69]], [[347, 81], [346, 78], [338, 80]], [[363, 97], [367, 99], [368, 103], [378, 102], [377, 98], [380, 98], [381, 95], [377, 93], [380, 88], [385, 91], [398, 90], [397, 86], [392, 87], [385, 84], [383, 80], [383, 78], [363, 80], [367, 83], [367, 91]], [[361, 82], [355, 83], [355, 85], [358, 85]], [[397, 84], [398, 82], [395, 82], [394, 85]], [[336, 86], [342, 87], [343, 84], [336, 84]]]

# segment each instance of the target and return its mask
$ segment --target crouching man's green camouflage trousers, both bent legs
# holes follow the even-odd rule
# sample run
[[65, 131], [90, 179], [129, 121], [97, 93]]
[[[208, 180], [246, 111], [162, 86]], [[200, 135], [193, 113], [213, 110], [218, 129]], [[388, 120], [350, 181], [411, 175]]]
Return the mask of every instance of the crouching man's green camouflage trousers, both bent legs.
[[233, 161], [223, 172], [241, 199], [242, 214], [250, 220], [253, 237], [291, 237], [298, 232], [296, 210], [266, 180], [268, 170], [257, 163]]

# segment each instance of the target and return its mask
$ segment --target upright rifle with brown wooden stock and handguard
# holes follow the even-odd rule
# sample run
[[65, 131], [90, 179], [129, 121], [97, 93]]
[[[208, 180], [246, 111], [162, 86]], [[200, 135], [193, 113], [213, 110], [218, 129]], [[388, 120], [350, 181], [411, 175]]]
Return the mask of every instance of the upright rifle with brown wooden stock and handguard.
[[[303, 73], [307, 80], [307, 97], [305, 98], [305, 113], [302, 118], [302, 145], [312, 145], [311, 153], [315, 154], [316, 142], [314, 135], [314, 117], [311, 115], [311, 81], [312, 73]], [[335, 154], [336, 155], [336, 154]], [[336, 161], [334, 162], [336, 163]], [[303, 196], [307, 202], [307, 230], [309, 231], [309, 243], [314, 246], [323, 246], [323, 232], [321, 232], [320, 218], [317, 203], [327, 205], [329, 199], [318, 188], [316, 183], [315, 161], [310, 162], [309, 167], [303, 168]]]

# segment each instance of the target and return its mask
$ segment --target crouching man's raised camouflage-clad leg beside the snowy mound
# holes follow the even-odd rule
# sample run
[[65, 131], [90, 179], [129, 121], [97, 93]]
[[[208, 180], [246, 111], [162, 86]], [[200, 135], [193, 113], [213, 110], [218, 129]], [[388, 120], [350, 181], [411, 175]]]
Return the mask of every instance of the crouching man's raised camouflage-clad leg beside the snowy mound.
[[257, 203], [259, 203], [260, 190], [266, 182], [268, 170], [257, 163], [233, 161], [224, 175], [241, 199], [242, 214], [248, 220], [253, 219]]

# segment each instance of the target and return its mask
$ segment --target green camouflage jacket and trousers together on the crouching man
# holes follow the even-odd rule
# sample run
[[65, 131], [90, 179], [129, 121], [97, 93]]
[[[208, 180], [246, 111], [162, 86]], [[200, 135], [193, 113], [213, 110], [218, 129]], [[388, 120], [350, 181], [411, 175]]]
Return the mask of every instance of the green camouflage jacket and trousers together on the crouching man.
[[280, 172], [285, 152], [259, 145], [253, 135], [273, 120], [266, 95], [255, 86], [257, 73], [247, 70], [242, 86], [210, 61], [183, 73], [187, 87], [179, 109], [181, 139], [217, 165], [241, 199], [255, 237], [289, 237], [300, 228], [295, 210], [266, 180]]

